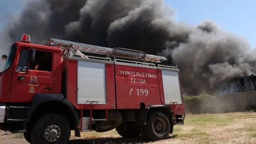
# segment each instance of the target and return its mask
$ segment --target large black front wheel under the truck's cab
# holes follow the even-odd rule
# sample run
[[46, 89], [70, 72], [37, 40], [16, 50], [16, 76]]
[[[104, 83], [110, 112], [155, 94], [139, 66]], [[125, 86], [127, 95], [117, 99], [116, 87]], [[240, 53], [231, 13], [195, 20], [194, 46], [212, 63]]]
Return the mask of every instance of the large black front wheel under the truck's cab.
[[32, 144], [67, 144], [70, 132], [66, 118], [59, 114], [47, 114], [33, 125]]

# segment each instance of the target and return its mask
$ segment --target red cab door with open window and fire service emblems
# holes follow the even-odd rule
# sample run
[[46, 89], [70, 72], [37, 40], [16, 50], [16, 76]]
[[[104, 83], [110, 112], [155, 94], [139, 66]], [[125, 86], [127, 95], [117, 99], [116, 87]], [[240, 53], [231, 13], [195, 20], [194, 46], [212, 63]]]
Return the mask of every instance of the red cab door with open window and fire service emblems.
[[[35, 60], [29, 66], [29, 72], [25, 73], [29, 50], [31, 47], [18, 51], [11, 80], [10, 102], [31, 102], [36, 93], [53, 93], [54, 52], [36, 48]], [[20, 79], [22, 75], [24, 79]]]

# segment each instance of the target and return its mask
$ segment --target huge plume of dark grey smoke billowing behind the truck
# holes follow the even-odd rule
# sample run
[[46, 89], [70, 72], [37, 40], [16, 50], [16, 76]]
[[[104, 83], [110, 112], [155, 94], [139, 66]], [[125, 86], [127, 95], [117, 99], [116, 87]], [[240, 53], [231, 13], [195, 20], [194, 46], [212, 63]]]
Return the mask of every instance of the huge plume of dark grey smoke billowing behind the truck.
[[27, 4], [6, 33], [12, 42], [18, 32], [30, 34], [38, 44], [53, 37], [167, 56], [168, 65], [179, 66], [188, 95], [255, 73], [255, 51], [245, 39], [212, 20], [195, 27], [177, 23], [173, 13], [163, 0], [37, 0]]

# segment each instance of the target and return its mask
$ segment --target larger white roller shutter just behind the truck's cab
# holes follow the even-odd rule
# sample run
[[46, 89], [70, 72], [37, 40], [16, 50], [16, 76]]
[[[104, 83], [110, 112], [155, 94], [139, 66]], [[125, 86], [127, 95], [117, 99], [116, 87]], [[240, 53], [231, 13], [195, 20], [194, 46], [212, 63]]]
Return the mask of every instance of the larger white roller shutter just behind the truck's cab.
[[[78, 61], [77, 69], [77, 103], [105, 104], [106, 76], [105, 64]], [[94, 102], [92, 102], [94, 101]]]

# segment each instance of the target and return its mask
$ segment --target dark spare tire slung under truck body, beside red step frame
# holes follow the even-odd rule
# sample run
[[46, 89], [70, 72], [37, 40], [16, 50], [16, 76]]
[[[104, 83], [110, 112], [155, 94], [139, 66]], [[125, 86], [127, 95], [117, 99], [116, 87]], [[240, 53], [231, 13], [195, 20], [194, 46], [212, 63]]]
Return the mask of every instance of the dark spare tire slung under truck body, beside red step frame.
[[107, 121], [97, 121], [98, 128], [96, 132], [107, 132], [118, 127], [123, 121], [119, 111], [109, 111]]

